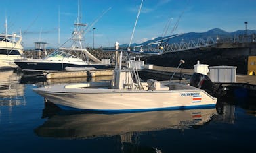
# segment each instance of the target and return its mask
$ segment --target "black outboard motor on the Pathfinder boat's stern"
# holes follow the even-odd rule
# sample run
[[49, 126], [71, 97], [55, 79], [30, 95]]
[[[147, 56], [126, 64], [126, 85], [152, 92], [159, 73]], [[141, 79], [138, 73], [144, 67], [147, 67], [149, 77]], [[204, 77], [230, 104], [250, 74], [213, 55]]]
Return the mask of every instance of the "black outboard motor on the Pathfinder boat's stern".
[[207, 75], [201, 73], [193, 73], [190, 78], [190, 86], [205, 90], [208, 94], [214, 97], [221, 97], [226, 94], [226, 88], [223, 88], [222, 84], [215, 84]]

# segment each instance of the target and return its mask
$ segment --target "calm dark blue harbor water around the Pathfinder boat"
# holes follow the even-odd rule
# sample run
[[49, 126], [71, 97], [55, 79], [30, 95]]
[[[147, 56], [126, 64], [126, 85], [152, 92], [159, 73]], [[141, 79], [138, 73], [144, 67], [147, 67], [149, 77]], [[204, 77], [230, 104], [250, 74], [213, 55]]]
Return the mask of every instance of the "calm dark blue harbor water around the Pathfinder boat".
[[0, 78], [0, 152], [255, 152], [249, 99], [227, 99], [217, 109], [70, 112], [32, 89], [86, 79], [45, 81], [13, 71]]

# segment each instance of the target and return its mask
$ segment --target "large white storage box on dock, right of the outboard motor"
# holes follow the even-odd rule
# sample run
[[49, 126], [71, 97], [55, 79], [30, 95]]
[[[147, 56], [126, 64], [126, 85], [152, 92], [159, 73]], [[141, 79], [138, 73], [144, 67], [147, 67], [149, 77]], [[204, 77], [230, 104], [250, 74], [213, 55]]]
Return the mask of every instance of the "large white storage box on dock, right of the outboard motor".
[[236, 82], [236, 67], [214, 66], [209, 67], [212, 82]]

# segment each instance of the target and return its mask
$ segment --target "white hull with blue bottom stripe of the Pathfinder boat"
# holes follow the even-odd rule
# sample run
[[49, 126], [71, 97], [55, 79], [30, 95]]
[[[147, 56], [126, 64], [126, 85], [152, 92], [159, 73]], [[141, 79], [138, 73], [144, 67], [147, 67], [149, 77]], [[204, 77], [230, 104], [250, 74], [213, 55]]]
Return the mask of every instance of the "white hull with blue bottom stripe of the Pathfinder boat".
[[96, 111], [150, 111], [161, 109], [193, 109], [215, 106], [213, 98], [204, 90], [146, 91], [117, 89], [60, 90], [60, 86], [37, 88], [34, 91], [64, 109]]

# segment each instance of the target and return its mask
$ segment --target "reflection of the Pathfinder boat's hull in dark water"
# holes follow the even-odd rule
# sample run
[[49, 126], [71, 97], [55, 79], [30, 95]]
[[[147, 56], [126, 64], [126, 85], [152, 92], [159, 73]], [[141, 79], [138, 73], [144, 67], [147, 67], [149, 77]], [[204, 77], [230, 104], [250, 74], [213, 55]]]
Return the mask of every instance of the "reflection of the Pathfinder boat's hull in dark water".
[[119, 114], [68, 112], [60, 111], [58, 115], [51, 116], [34, 130], [35, 134], [41, 137], [90, 138], [164, 129], [187, 129], [194, 125], [204, 125], [216, 113], [216, 109]]

